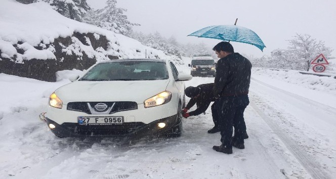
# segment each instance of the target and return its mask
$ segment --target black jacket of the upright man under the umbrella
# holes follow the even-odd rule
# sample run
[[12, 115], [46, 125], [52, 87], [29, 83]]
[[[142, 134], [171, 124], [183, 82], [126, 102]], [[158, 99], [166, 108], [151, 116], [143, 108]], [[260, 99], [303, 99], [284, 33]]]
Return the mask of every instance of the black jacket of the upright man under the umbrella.
[[232, 53], [217, 62], [215, 97], [247, 95], [251, 79], [251, 62]]

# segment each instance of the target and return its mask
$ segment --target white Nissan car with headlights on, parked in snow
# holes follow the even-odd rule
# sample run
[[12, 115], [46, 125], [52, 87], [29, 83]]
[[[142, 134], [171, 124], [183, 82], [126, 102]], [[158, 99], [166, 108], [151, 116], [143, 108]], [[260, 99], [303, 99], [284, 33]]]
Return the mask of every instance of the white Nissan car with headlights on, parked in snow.
[[191, 78], [169, 60], [101, 62], [50, 96], [47, 124], [61, 138], [179, 137]]

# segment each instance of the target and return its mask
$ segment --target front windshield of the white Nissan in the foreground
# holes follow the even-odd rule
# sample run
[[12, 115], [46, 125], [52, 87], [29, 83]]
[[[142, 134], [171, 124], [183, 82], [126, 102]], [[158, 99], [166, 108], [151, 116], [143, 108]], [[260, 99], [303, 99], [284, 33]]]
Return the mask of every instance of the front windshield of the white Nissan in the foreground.
[[151, 61], [116, 61], [100, 63], [88, 71], [80, 81], [114, 80], [159, 80], [168, 79], [164, 62]]

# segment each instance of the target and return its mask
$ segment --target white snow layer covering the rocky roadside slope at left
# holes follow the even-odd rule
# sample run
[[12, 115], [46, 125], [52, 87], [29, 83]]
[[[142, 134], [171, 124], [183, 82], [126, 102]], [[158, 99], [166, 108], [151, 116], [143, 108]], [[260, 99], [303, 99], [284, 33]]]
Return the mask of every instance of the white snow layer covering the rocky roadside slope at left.
[[[74, 33], [93, 33], [96, 39], [106, 36], [109, 41], [108, 49], [93, 49], [92, 46], [85, 46], [79, 40], [72, 37], [73, 44], [64, 47], [66, 53], [96, 56], [97, 61], [108, 60], [107, 56], [118, 56], [125, 58], [160, 58], [170, 59], [176, 63], [182, 63], [176, 56], [167, 56], [162, 51], [143, 46], [139, 41], [116, 34], [90, 24], [81, 23], [68, 19], [44, 2], [29, 5], [16, 1], [2, 0], [0, 6], [0, 51], [2, 58], [13, 58], [15, 55], [17, 63], [30, 59], [55, 59], [53, 48], [37, 50], [36, 47], [43, 44], [51, 44], [55, 39], [71, 37]], [[88, 41], [90, 44], [90, 41]], [[17, 44], [24, 48], [24, 54], [16, 50]], [[91, 44], [90, 44], [91, 45]], [[23, 47], [22, 47], [23, 46]], [[103, 55], [102, 55], [103, 54]], [[60, 60], [60, 59], [59, 59]]]

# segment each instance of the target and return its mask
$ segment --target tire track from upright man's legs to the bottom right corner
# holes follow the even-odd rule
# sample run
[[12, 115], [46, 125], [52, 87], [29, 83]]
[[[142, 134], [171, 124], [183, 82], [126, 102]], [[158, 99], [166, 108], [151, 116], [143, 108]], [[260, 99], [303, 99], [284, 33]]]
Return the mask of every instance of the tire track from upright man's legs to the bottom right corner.
[[322, 167], [319, 165], [318, 162], [313, 159], [312, 156], [302, 151], [297, 143], [291, 140], [291, 138], [288, 137], [284, 132], [282, 132], [281, 128], [275, 122], [273, 122], [264, 112], [262, 112], [255, 103], [250, 102], [250, 105], [262, 117], [267, 125], [269, 125], [274, 133], [285, 144], [287, 149], [298, 159], [298, 161], [307, 170], [307, 172], [311, 174], [313, 178], [331, 178], [322, 170]]

